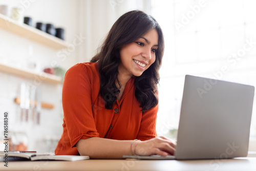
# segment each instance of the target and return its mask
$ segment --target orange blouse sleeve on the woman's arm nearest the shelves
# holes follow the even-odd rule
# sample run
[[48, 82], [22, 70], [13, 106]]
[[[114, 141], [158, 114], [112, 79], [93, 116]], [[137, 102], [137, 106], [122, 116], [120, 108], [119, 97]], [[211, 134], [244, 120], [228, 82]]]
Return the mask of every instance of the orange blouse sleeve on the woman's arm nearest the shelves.
[[85, 65], [70, 68], [63, 82], [62, 105], [71, 147], [80, 139], [99, 137], [92, 113], [92, 84]]

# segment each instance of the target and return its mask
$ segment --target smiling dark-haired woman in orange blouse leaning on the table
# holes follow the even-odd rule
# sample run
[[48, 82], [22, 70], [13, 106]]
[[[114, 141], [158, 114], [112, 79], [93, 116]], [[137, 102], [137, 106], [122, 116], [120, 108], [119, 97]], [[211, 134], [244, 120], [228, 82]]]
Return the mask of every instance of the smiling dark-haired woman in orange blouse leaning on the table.
[[153, 17], [137, 10], [123, 14], [91, 62], [66, 73], [63, 134], [55, 154], [100, 159], [173, 155], [175, 142], [156, 134], [163, 49]]

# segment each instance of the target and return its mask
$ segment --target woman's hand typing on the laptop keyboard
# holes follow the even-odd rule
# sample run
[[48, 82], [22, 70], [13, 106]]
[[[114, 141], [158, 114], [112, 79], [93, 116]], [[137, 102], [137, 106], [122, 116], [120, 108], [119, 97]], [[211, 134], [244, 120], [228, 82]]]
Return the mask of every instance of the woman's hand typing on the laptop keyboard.
[[136, 141], [132, 144], [134, 155], [150, 156], [150, 155], [174, 155], [176, 141], [165, 137], [156, 137], [146, 141]]

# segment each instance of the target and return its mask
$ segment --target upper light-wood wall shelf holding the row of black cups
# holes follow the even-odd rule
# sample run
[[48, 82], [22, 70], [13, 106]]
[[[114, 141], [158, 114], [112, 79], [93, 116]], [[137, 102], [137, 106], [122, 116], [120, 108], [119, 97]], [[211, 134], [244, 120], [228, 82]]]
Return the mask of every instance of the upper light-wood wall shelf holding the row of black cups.
[[26, 24], [18, 24], [15, 20], [0, 14], [0, 28], [20, 36], [27, 37], [54, 49], [66, 49], [68, 43], [48, 33], [42, 32]]

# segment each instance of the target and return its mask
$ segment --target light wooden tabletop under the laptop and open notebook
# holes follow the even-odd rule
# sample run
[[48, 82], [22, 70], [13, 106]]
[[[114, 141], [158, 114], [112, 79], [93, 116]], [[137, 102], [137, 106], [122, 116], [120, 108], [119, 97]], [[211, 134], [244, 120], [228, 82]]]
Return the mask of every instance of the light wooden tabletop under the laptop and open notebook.
[[223, 160], [81, 160], [81, 161], [9, 161], [0, 170], [255, 170], [256, 158]]

